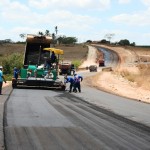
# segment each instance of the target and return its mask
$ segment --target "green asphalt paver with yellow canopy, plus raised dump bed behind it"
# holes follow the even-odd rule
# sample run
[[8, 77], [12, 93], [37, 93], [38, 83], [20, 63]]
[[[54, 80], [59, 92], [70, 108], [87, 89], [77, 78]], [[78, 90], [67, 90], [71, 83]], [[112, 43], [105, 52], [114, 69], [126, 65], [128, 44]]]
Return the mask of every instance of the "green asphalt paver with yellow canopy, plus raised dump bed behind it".
[[[58, 78], [59, 55], [63, 50], [51, 48], [52, 37], [27, 35], [23, 68], [20, 69], [19, 78], [12, 78], [12, 87], [46, 87], [65, 90], [63, 81]], [[51, 52], [57, 54], [57, 61], [51, 68], [46, 68], [46, 61]], [[48, 71], [52, 78], [45, 78]]]

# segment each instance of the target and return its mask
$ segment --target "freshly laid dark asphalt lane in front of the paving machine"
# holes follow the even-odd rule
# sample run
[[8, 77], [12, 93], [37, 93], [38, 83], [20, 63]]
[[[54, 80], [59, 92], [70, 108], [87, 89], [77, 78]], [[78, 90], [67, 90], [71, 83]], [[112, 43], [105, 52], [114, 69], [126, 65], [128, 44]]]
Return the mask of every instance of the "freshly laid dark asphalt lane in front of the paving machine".
[[[90, 98], [94, 92], [86, 90], [14, 89], [5, 107], [6, 149], [150, 149], [149, 127], [86, 102], [82, 95]], [[102, 100], [101, 94], [94, 97]]]

